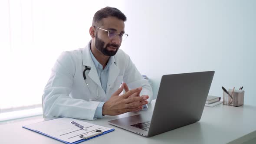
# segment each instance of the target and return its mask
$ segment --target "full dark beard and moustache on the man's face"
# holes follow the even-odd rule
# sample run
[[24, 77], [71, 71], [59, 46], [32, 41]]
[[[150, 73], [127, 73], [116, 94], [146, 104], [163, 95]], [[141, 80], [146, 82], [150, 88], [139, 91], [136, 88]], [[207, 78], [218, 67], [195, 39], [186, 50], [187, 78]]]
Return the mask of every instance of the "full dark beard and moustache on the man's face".
[[[118, 51], [120, 45], [116, 45], [116, 44], [110, 44], [108, 43], [105, 47], [105, 42], [103, 42], [101, 39], [98, 38], [98, 33], [96, 33], [95, 36], [95, 47], [96, 49], [98, 49], [100, 52], [102, 52], [103, 55], [105, 56], [115, 56], [116, 52]], [[112, 50], [108, 50], [108, 46], [113, 46], [115, 48], [117, 48], [115, 51]]]

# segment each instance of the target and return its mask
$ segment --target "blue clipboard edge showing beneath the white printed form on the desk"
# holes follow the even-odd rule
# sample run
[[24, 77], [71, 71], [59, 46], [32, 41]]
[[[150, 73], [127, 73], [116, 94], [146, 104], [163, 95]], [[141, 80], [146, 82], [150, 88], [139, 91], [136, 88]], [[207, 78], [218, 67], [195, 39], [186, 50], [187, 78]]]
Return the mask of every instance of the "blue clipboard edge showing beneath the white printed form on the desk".
[[56, 137], [50, 136], [50, 135], [48, 135], [48, 134], [45, 134], [45, 133], [43, 133], [43, 132], [41, 132], [41, 131], [36, 131], [36, 130], [34, 130], [34, 129], [27, 128], [26, 126], [23, 126], [22, 128], [26, 128], [26, 129], [28, 129], [28, 130], [35, 131], [35, 132], [37, 132], [37, 133], [39, 133], [39, 134], [43, 134], [43, 135], [45, 135], [45, 136], [47, 136], [47, 137], [51, 137], [51, 138], [53, 138], [53, 139], [56, 139], [56, 140], [58, 140], [58, 141], [61, 141], [61, 142], [63, 142], [63, 143], [66, 143], [66, 144], [78, 144], [78, 143], [81, 143], [81, 142], [83, 142], [83, 141], [88, 141], [88, 140], [90, 140], [90, 139], [92, 139], [92, 138], [101, 136], [101, 135], [103, 135], [103, 134], [107, 134], [107, 133], [109, 133], [109, 132], [115, 130], [115, 129], [113, 128], [113, 129], [111, 129], [111, 130], [108, 130], [108, 131], [103, 132], [102, 134], [98, 134], [98, 135], [96, 135], [96, 136], [94, 136], [94, 137], [90, 137], [90, 138], [88, 138], [88, 139], [81, 139], [81, 140], [79, 140], [79, 141], [75, 141], [75, 142], [73, 142], [73, 143], [69, 143], [69, 142], [67, 142], [67, 141], [63, 141], [63, 140], [61, 140], [61, 139], [59, 139], [59, 138], [56, 138]]

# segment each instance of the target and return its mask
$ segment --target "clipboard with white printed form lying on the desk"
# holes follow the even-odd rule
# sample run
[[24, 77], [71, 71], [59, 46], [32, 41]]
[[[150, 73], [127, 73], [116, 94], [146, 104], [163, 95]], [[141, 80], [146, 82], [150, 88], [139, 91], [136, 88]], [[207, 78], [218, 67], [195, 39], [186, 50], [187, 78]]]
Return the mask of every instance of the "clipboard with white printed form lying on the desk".
[[[85, 127], [86, 130], [71, 124], [70, 121], [79, 123]], [[38, 132], [48, 137], [52, 137], [66, 144], [77, 144], [82, 141], [87, 141], [91, 138], [114, 131], [113, 128], [102, 127], [100, 125], [66, 117], [26, 125], [23, 126], [23, 128]]]

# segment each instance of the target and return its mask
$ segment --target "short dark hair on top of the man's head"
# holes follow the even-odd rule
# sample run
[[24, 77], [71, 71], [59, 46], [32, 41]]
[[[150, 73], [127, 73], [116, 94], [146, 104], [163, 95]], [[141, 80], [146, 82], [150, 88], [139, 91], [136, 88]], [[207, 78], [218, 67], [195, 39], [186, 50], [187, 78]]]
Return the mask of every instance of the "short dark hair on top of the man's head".
[[126, 21], [126, 16], [124, 13], [122, 13], [120, 10], [118, 10], [115, 7], [105, 7], [100, 10], [98, 10], [92, 20], [92, 25], [98, 24], [103, 18], [107, 18], [108, 16], [114, 16], [118, 18], [119, 20]]

